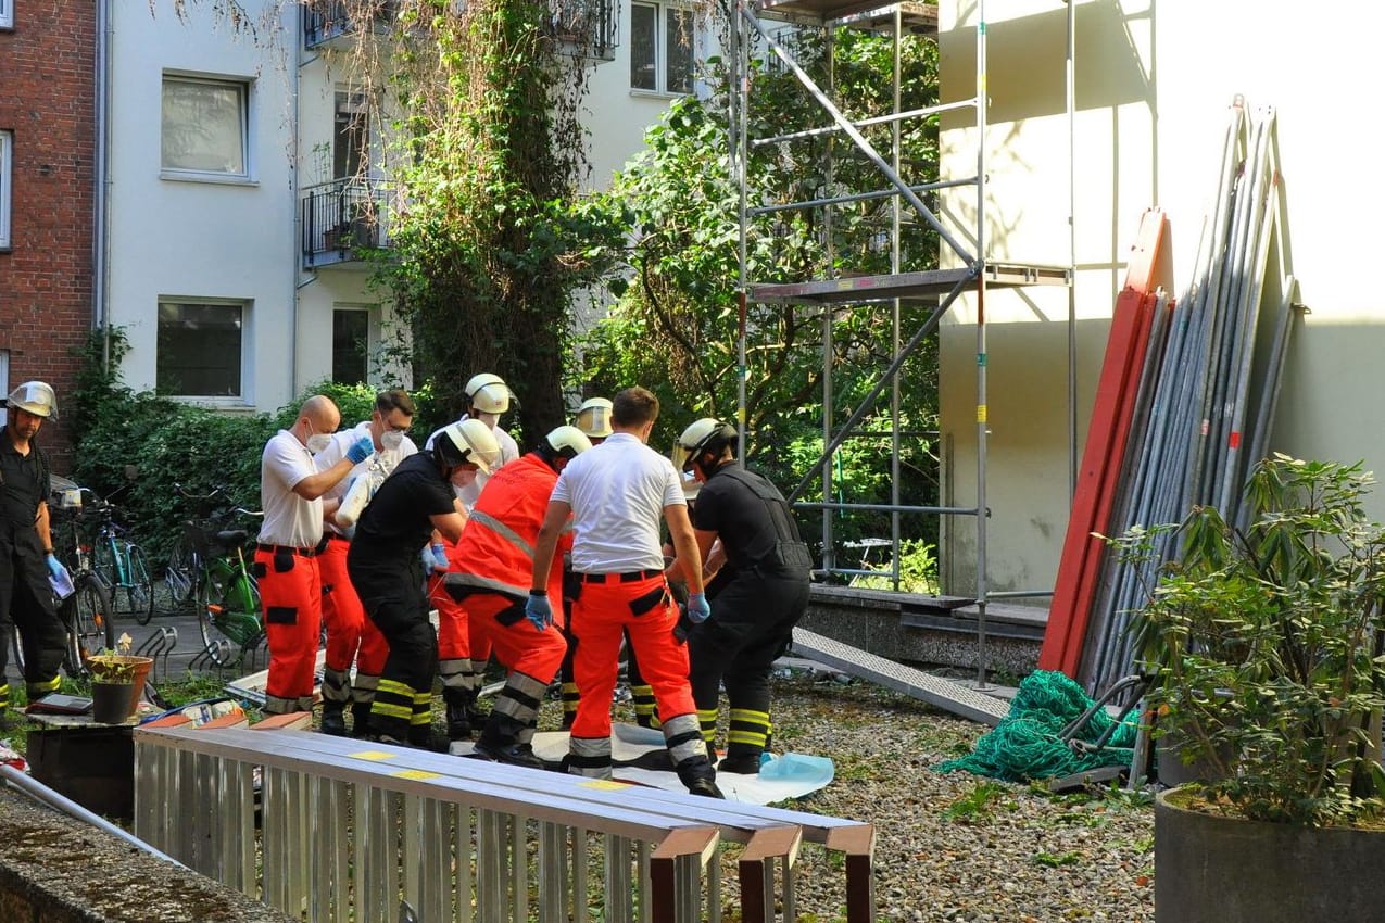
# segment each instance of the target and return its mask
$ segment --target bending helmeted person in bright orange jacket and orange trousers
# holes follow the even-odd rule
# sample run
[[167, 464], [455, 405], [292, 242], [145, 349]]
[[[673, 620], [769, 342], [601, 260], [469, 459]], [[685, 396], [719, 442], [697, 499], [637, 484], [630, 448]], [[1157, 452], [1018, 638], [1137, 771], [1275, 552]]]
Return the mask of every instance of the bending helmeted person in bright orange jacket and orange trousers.
[[[494, 650], [508, 670], [506, 688], [476, 740], [476, 756], [482, 758], [544, 768], [533, 753], [533, 732], [543, 693], [568, 645], [557, 627], [526, 619], [524, 606], [533, 573], [533, 548], [553, 486], [564, 466], [589, 448], [591, 443], [578, 428], [558, 426], [535, 451], [497, 470], [481, 491], [450, 555], [445, 595], [456, 602], [440, 607], [439, 619], [450, 620], [463, 610], [474, 652]], [[558, 552], [571, 544], [564, 536]], [[562, 592], [558, 555], [548, 569], [547, 588], [554, 598]], [[439, 634], [440, 628], [439, 623]]]

